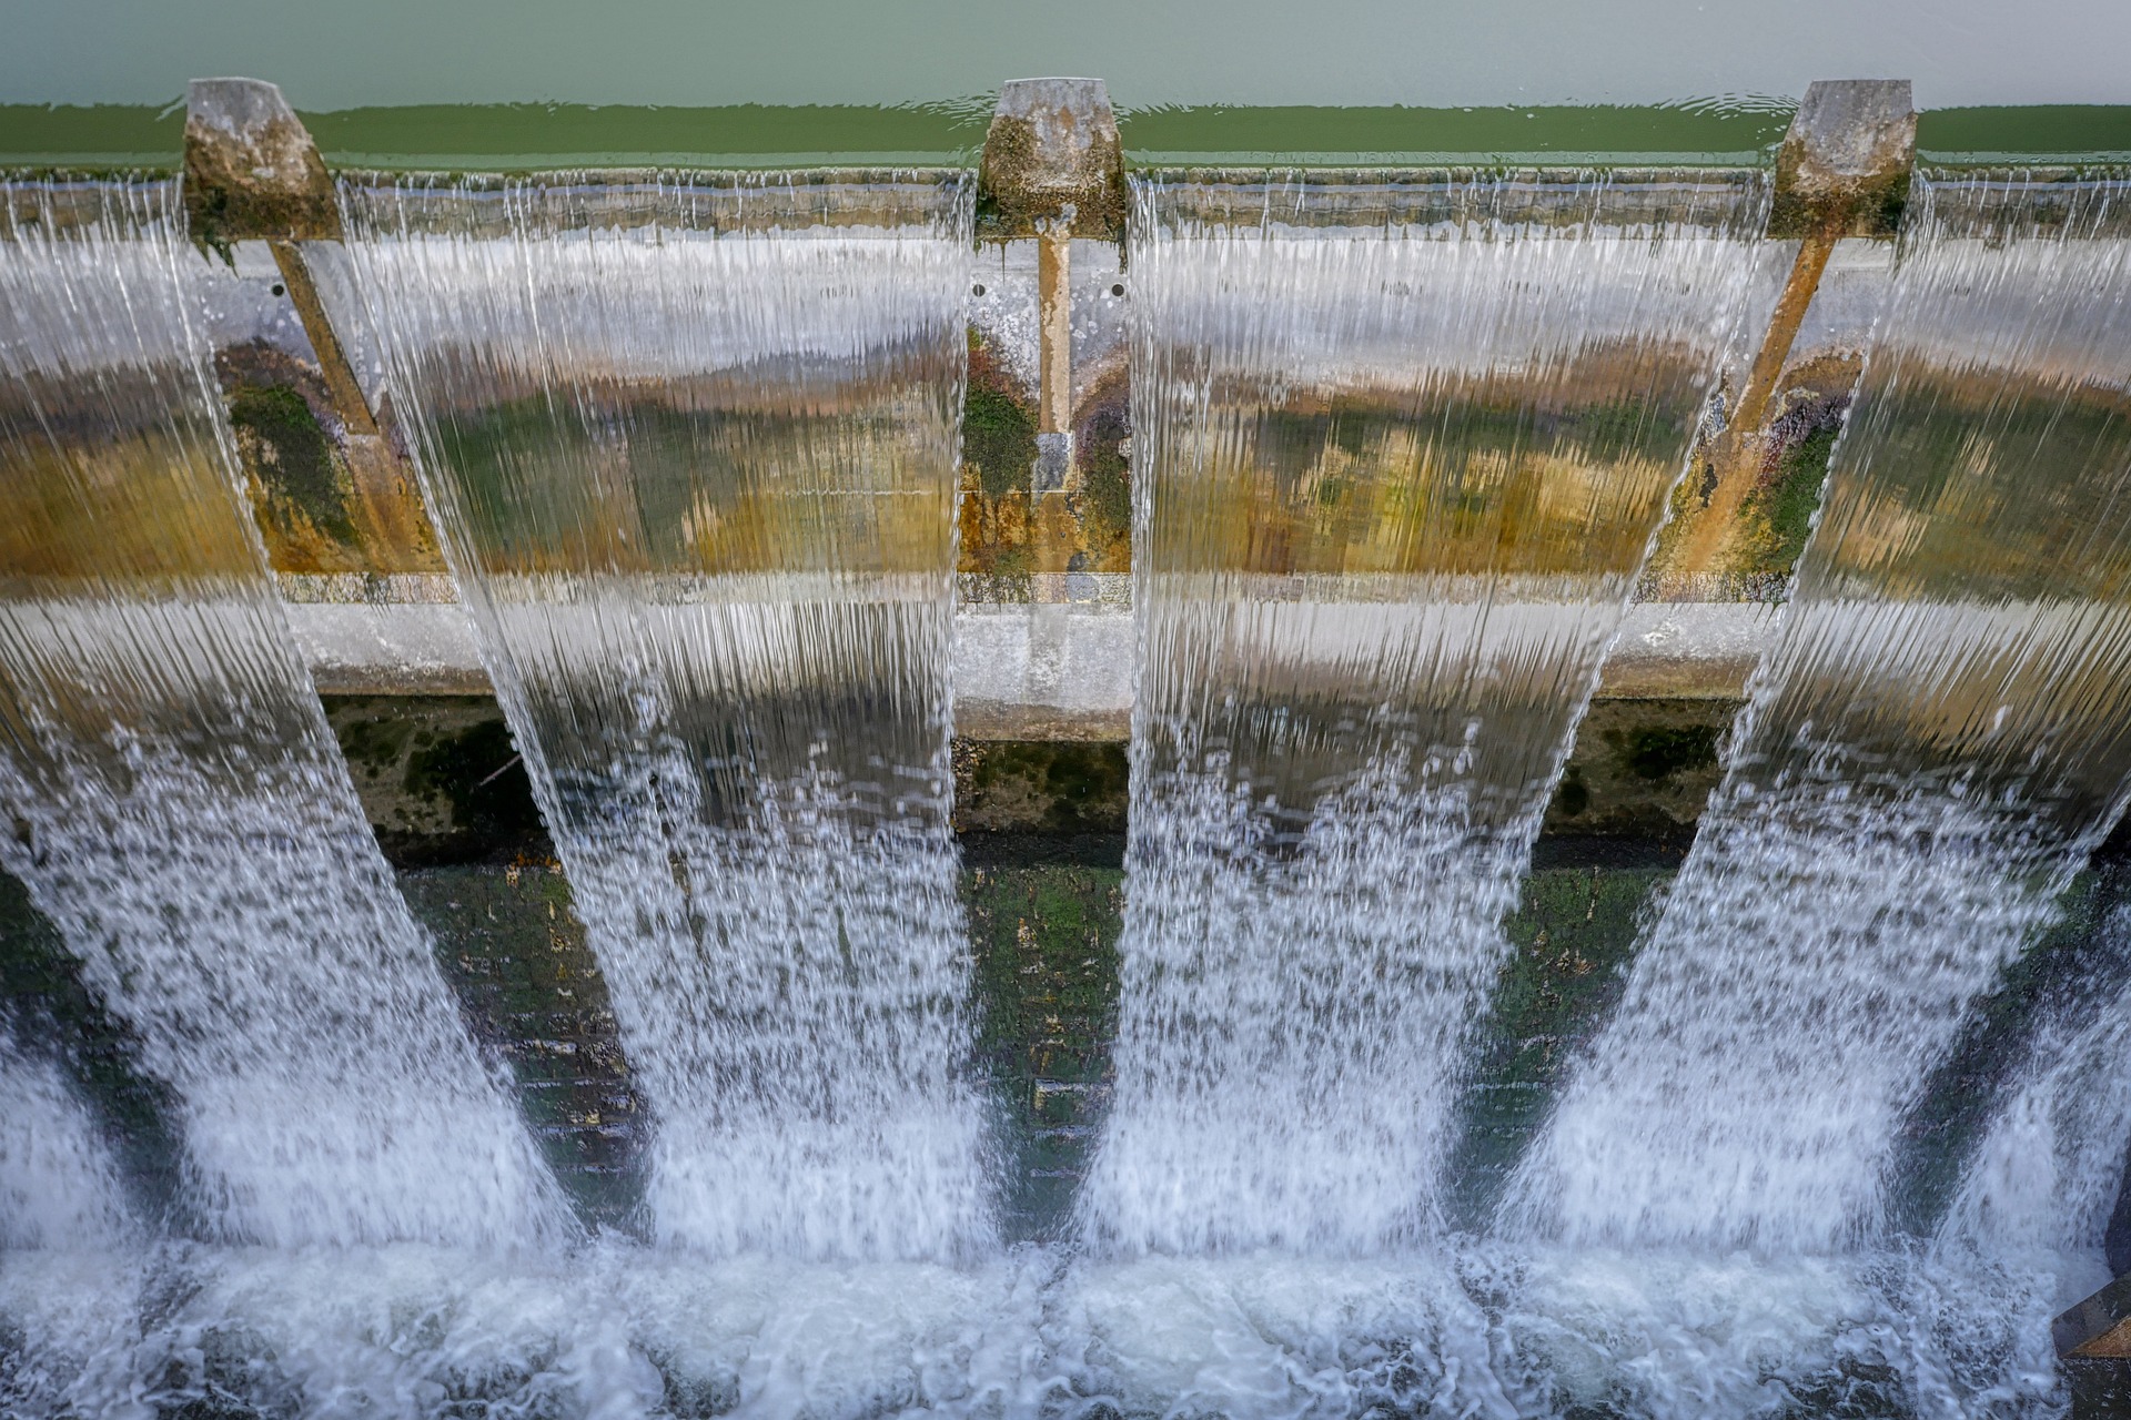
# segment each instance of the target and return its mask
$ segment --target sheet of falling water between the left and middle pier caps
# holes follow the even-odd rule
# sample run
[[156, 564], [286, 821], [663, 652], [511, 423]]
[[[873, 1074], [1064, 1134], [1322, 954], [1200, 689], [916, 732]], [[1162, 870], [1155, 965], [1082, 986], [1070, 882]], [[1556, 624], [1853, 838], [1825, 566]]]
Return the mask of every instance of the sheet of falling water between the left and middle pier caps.
[[654, 1113], [652, 1228], [980, 1248], [948, 830], [967, 185], [343, 200]]

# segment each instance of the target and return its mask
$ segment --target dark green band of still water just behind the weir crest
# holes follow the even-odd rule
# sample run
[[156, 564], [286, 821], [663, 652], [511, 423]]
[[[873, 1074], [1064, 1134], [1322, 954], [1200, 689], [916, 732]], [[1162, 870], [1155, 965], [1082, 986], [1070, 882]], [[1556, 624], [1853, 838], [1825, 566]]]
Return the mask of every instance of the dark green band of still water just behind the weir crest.
[[[341, 168], [967, 166], [991, 96], [931, 104], [409, 104], [305, 113]], [[1713, 164], [1775, 155], [1790, 109], [1760, 104], [1149, 106], [1119, 128], [1136, 166]], [[175, 168], [170, 104], [0, 104], [4, 168]], [[1935, 109], [1918, 155], [1939, 164], [2131, 160], [2131, 104]]]

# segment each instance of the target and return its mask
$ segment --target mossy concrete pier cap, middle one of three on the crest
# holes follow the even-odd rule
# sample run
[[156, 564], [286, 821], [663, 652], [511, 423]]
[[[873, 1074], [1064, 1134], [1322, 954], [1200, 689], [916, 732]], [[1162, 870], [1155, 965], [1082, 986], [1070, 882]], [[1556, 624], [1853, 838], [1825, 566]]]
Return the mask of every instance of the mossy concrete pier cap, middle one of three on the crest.
[[1010, 79], [978, 164], [978, 232], [1123, 241], [1125, 149], [1102, 79]]

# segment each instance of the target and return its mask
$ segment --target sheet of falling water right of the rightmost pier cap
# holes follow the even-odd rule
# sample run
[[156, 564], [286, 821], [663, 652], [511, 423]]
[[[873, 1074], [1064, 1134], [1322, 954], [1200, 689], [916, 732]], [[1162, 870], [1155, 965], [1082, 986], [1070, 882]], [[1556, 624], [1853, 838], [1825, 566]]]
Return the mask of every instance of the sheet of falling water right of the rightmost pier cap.
[[1779, 641], [1524, 1226], [1882, 1231], [1931, 1064], [2122, 811], [2127, 234], [2120, 183], [1918, 183]]

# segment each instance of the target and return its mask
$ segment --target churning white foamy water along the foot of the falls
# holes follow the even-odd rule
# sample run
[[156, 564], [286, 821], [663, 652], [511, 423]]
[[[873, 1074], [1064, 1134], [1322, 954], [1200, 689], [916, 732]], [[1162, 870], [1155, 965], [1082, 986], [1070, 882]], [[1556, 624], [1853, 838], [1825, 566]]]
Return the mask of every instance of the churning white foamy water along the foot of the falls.
[[972, 1267], [396, 1245], [13, 1254], [0, 1403], [53, 1416], [2052, 1414], [2048, 1277], [1662, 1252]]

